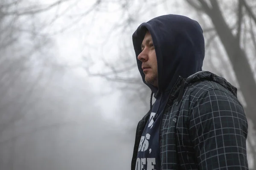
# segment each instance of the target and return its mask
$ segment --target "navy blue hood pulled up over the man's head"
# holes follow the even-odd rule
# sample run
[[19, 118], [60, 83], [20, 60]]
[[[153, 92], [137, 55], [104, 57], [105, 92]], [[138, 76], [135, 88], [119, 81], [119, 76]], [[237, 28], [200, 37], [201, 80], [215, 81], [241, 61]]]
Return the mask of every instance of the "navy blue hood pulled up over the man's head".
[[[142, 52], [141, 43], [149, 31], [157, 56], [158, 88], [145, 82], [142, 62], [137, 59]], [[163, 15], [142, 23], [132, 35], [137, 65], [143, 82], [155, 97], [170, 91], [178, 77], [187, 78], [202, 71], [204, 36], [199, 23], [181, 15]]]

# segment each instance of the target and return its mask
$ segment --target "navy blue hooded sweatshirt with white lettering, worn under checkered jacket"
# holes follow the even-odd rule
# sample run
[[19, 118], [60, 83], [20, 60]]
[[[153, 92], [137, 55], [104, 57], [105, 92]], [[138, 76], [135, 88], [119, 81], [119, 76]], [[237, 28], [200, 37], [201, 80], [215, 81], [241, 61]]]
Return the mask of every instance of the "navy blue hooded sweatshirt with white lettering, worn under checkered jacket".
[[[142, 62], [138, 59], [138, 55], [142, 52], [141, 44], [146, 31], [151, 34], [157, 56], [158, 88], [145, 82]], [[178, 77], [187, 78], [202, 71], [203, 31], [197, 21], [169, 14], [142, 23], [132, 38], [141, 77], [156, 98], [141, 136], [135, 169], [160, 170], [159, 133], [162, 113], [168, 101], [169, 92]]]

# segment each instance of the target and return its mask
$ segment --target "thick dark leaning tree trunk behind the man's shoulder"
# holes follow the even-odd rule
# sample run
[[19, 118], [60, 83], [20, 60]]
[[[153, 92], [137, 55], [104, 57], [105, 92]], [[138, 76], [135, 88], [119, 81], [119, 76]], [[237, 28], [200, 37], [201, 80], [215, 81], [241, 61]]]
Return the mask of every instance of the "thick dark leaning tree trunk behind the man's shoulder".
[[233, 65], [233, 70], [247, 105], [245, 108], [246, 114], [253, 122], [256, 122], [256, 82], [246, 53], [241, 49], [239, 38], [232, 34], [220, 9], [214, 8], [213, 6], [213, 9], [207, 11], [207, 14], [211, 18], [230, 62]]

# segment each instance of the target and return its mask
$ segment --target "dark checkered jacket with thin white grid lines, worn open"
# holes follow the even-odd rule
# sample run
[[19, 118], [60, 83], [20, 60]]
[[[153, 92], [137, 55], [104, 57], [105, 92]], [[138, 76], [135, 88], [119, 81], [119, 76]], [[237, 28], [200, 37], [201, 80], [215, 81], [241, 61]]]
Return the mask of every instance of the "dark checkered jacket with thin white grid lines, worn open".
[[[247, 119], [236, 88], [208, 71], [177, 81], [164, 109], [160, 130], [162, 170], [247, 170]], [[131, 169], [149, 113], [137, 127]]]

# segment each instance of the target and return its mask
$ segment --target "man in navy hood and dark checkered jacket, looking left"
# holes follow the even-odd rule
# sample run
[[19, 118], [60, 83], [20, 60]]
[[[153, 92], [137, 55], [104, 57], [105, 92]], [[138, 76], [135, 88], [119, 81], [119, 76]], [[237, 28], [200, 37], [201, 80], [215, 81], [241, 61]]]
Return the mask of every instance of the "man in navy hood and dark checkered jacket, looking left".
[[137, 126], [131, 170], [248, 169], [248, 126], [237, 89], [202, 71], [198, 22], [164, 15], [142, 23], [132, 38], [152, 94], [150, 111]]

